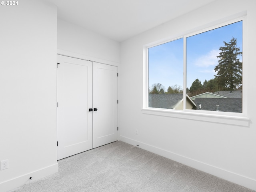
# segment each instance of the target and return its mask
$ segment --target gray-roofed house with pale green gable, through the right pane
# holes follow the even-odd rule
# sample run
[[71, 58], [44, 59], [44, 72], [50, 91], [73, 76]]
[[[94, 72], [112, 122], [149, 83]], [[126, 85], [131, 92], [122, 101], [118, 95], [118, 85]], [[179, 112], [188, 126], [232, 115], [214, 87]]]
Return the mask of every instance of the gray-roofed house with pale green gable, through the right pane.
[[192, 96], [197, 107], [193, 109], [242, 113], [242, 91], [205, 92]]

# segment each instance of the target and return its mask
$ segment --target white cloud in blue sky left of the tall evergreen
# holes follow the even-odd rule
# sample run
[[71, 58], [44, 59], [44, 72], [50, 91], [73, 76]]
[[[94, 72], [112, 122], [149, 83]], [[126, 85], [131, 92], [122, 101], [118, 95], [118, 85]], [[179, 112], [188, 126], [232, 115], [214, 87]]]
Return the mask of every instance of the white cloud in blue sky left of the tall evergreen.
[[218, 65], [219, 50], [211, 50], [206, 55], [202, 55], [195, 60], [195, 66], [208, 67]]

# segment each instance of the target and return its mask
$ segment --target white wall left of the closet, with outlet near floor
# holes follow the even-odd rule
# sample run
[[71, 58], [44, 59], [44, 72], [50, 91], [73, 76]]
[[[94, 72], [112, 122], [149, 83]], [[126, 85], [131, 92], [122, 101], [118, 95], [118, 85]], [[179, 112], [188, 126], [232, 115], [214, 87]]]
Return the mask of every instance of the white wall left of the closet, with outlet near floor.
[[1, 192], [58, 171], [57, 8], [18, 3], [0, 8], [0, 160], [9, 160]]

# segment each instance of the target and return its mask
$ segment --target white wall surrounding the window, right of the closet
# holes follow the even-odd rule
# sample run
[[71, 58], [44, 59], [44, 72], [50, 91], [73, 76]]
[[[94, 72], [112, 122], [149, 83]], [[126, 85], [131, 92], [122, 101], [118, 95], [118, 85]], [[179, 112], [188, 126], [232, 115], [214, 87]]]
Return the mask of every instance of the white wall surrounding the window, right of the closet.
[[[255, 2], [216, 0], [121, 43], [120, 140], [256, 190]], [[248, 88], [249, 126], [142, 114], [143, 46], [196, 32], [247, 12], [243, 78]], [[247, 51], [247, 54], [245, 52]], [[246, 71], [246, 70], [245, 70]], [[244, 85], [244, 89], [246, 85]], [[247, 89], [247, 88], [246, 88]], [[246, 100], [244, 100], [246, 104]], [[135, 130], [138, 130], [138, 135]]]

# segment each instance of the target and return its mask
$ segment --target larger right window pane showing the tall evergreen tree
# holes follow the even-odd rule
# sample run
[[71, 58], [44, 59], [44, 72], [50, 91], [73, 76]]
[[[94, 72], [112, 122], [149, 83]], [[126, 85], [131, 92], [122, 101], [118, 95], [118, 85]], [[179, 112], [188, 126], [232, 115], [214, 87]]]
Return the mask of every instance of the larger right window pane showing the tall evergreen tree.
[[242, 21], [186, 38], [186, 87], [192, 109], [242, 113]]

